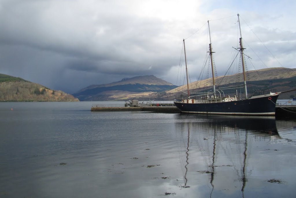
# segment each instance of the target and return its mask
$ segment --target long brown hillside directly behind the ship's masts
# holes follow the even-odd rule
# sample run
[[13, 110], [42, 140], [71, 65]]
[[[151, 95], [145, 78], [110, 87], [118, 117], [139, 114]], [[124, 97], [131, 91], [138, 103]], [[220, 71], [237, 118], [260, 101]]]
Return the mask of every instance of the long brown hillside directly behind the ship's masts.
[[[295, 68], [266, 68], [254, 71], [248, 71], [249, 80], [247, 82], [248, 85], [248, 95], [256, 94], [256, 93], [269, 93], [269, 92], [283, 92], [287, 90], [296, 89], [296, 69]], [[220, 86], [217, 87], [226, 87], [233, 86], [237, 79], [243, 79], [242, 74], [240, 75], [228, 75], [228, 76], [219, 76], [218, 81], [220, 82]], [[216, 80], [217, 81], [217, 80]], [[189, 84], [190, 92], [198, 92], [203, 90], [207, 84], [207, 87], [211, 88], [213, 86], [212, 78], [206, 80], [200, 80], [196, 82], [192, 82]], [[163, 100], [171, 100], [172, 98], [178, 97], [180, 95], [180, 91], [187, 92], [187, 84], [182, 85], [176, 89], [172, 89], [163, 93], [160, 97]], [[233, 92], [233, 91], [232, 91]], [[224, 91], [225, 95], [233, 95], [231, 91]], [[240, 90], [238, 90], [240, 92]], [[243, 92], [243, 91], [242, 91]], [[183, 95], [186, 95], [183, 93]], [[291, 95], [296, 95], [296, 92], [287, 92], [285, 94], [281, 94], [279, 99], [289, 99]]]

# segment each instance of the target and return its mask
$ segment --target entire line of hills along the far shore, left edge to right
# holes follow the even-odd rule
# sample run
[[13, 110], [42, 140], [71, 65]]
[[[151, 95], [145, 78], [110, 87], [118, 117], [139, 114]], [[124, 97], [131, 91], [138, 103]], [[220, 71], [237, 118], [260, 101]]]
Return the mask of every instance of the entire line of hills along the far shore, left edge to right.
[[[268, 68], [249, 71], [249, 96], [258, 93], [283, 92], [296, 88], [296, 69]], [[226, 87], [234, 85], [242, 76], [220, 76], [220, 85]], [[211, 89], [212, 80], [200, 80], [189, 84], [190, 92]], [[181, 92], [183, 91], [183, 92]], [[239, 94], [242, 90], [237, 90]], [[27, 80], [0, 74], [0, 101], [108, 101], [108, 100], [173, 100], [181, 94], [186, 96], [187, 85], [177, 87], [153, 75], [136, 76], [122, 79], [109, 84], [90, 85], [73, 95], [62, 91], [51, 90], [40, 84]], [[224, 91], [225, 95], [233, 95], [233, 91]], [[243, 93], [242, 93], [243, 94]], [[281, 94], [279, 99], [289, 99], [296, 96], [296, 91]], [[75, 98], [74, 98], [75, 97]], [[78, 100], [79, 99], [79, 100]]]

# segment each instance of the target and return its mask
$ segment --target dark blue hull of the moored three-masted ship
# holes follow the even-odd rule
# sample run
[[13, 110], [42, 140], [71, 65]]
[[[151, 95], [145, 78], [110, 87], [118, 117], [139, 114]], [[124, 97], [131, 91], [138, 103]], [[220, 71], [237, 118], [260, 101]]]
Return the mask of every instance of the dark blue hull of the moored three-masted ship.
[[271, 116], [275, 115], [278, 97], [279, 94], [262, 95], [245, 100], [219, 103], [182, 103], [182, 100], [175, 99], [174, 103], [183, 113]]

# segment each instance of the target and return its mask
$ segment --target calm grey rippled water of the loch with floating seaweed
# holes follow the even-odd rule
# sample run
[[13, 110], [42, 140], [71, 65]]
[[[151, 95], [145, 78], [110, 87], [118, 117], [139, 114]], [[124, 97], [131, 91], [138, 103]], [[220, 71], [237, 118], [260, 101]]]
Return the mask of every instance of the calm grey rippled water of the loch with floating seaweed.
[[0, 197], [295, 197], [295, 120], [92, 103], [0, 103]]

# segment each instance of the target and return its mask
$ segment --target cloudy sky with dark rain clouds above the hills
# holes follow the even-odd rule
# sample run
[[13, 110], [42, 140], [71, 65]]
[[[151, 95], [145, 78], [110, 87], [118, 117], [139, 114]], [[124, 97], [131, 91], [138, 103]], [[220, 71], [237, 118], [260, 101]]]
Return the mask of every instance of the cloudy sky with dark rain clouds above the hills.
[[208, 50], [209, 20], [224, 75], [238, 13], [249, 70], [295, 68], [295, 8], [292, 0], [0, 0], [0, 73], [70, 94], [144, 75], [180, 85], [185, 39], [193, 82]]

